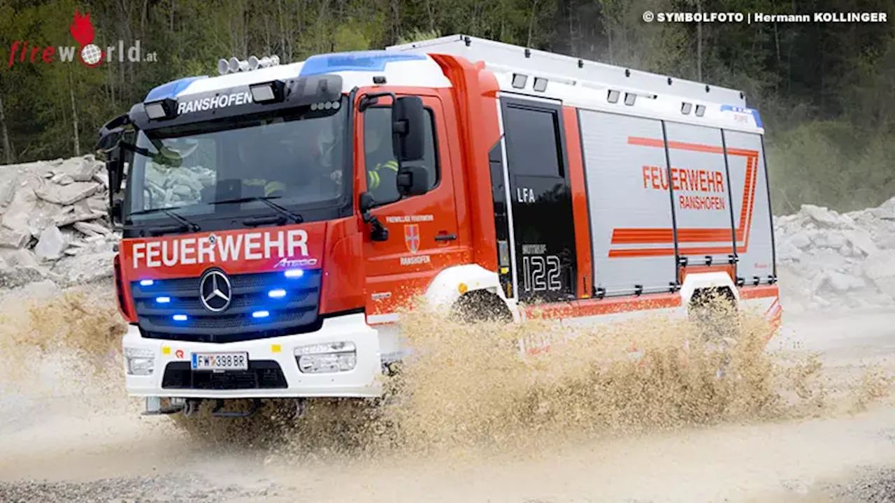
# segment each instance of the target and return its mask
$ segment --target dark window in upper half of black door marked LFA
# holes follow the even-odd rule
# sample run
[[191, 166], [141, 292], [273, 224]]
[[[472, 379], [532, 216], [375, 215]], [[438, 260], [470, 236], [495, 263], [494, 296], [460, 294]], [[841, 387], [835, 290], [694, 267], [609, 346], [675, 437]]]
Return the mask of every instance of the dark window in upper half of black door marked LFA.
[[565, 177], [555, 113], [507, 107], [504, 123], [513, 124], [512, 134], [507, 134], [507, 151], [516, 175]]

